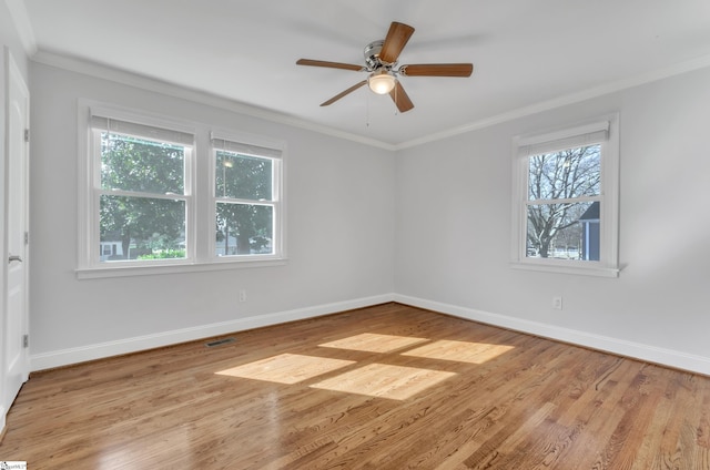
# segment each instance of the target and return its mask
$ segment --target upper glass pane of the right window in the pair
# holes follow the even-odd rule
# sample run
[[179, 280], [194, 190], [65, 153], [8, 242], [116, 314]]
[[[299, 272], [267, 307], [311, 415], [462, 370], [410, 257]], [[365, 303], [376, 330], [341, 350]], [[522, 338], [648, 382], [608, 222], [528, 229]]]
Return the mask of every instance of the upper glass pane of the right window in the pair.
[[272, 167], [270, 159], [217, 151], [215, 196], [272, 201]]

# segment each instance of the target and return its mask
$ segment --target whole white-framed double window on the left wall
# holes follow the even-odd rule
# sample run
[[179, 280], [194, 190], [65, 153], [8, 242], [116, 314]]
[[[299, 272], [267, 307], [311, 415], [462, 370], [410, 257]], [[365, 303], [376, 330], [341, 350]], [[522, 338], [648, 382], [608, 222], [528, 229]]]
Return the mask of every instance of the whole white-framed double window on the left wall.
[[80, 278], [284, 259], [282, 144], [88, 104], [82, 122]]

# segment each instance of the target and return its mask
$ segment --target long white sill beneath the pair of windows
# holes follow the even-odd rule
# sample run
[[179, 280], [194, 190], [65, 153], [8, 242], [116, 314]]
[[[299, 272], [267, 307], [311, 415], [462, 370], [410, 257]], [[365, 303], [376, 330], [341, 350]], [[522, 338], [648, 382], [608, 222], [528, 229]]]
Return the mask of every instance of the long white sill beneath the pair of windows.
[[154, 276], [163, 274], [203, 273], [210, 270], [227, 270], [254, 267], [284, 266], [288, 258], [216, 260], [213, 263], [184, 263], [148, 266], [116, 266], [78, 268], [77, 279], [97, 279], [108, 277]]

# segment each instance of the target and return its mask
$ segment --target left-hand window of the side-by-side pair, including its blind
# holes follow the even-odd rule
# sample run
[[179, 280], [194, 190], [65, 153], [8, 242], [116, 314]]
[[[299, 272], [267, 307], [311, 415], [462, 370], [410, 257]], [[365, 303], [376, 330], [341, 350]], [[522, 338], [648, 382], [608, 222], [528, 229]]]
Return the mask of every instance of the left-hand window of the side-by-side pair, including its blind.
[[[194, 135], [103, 115], [91, 117], [92, 206], [101, 264], [186, 259]], [[121, 246], [113, 253], [111, 247]]]

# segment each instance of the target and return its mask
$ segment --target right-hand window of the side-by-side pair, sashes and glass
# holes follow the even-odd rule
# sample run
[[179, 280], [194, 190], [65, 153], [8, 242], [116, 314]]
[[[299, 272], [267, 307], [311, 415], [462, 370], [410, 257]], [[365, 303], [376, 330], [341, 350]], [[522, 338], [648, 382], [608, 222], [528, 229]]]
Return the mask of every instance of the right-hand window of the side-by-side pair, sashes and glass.
[[278, 248], [275, 235], [280, 159], [226, 150], [239, 146], [234, 142], [213, 140], [214, 254], [235, 258], [274, 256]]

